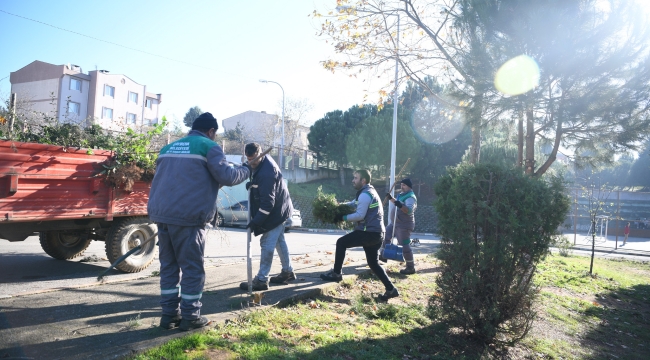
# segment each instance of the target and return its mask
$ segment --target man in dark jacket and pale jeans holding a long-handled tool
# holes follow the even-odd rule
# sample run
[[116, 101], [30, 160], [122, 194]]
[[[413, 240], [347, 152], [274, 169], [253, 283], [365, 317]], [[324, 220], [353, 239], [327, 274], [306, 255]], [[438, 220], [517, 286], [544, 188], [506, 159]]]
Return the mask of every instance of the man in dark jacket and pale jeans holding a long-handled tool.
[[[253, 290], [268, 290], [269, 281], [272, 283], [284, 283], [295, 280], [296, 275], [291, 267], [289, 248], [284, 240], [284, 222], [293, 213], [293, 205], [289, 197], [289, 189], [282, 180], [282, 172], [278, 165], [269, 155], [255, 160], [262, 153], [257, 143], [246, 145], [246, 158], [253, 169], [253, 178], [247, 184], [251, 190], [251, 216], [248, 224], [251, 231], [260, 238], [260, 270], [253, 279]], [[273, 252], [278, 250], [282, 272], [278, 276], [268, 278], [273, 264]], [[242, 282], [239, 286], [242, 290], [248, 290], [248, 282]]]

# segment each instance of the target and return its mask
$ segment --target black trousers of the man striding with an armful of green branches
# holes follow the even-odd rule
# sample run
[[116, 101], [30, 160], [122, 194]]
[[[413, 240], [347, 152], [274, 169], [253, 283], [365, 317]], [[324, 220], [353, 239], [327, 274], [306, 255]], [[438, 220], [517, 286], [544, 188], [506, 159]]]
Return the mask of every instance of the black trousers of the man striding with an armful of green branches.
[[381, 248], [382, 233], [355, 230], [340, 237], [336, 241], [336, 255], [334, 258], [334, 272], [341, 273], [345, 251], [349, 248], [362, 246], [366, 252], [366, 261], [379, 280], [384, 284], [387, 291], [393, 290], [393, 283], [386, 275], [386, 271], [379, 265], [379, 248]]

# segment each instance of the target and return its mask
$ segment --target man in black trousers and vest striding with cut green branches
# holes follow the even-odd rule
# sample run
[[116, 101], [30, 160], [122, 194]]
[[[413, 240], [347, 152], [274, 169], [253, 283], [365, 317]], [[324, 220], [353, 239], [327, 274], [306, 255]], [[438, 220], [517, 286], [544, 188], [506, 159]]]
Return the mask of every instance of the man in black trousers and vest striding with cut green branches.
[[325, 274], [321, 279], [325, 281], [343, 280], [342, 268], [345, 260], [345, 251], [352, 247], [362, 246], [366, 252], [366, 261], [370, 270], [377, 275], [384, 284], [386, 292], [379, 298], [383, 301], [399, 296], [399, 291], [386, 275], [384, 268], [379, 265], [379, 248], [384, 238], [384, 208], [375, 188], [370, 185], [370, 171], [357, 170], [354, 172], [352, 185], [357, 190], [355, 201], [347, 203], [355, 208], [355, 212], [349, 215], [339, 215], [336, 221], [352, 221], [357, 224], [354, 231], [340, 237], [336, 241], [336, 255], [334, 257], [334, 268]]

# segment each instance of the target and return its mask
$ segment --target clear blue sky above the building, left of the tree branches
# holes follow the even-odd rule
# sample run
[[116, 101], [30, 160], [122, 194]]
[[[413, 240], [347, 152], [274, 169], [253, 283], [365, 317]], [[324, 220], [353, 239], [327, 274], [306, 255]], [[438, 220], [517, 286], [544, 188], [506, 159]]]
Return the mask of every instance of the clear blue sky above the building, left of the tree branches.
[[[109, 70], [162, 93], [161, 116], [170, 120], [182, 120], [195, 105], [219, 120], [247, 110], [279, 113], [282, 92], [259, 82], [267, 79], [282, 84], [286, 97], [308, 99], [313, 122], [360, 103], [368, 88], [319, 63], [334, 50], [308, 15], [334, 6], [334, 0], [0, 0], [0, 10], [180, 61], [0, 12], [0, 78], [34, 60]], [[8, 77], [0, 80], [2, 99], [10, 88]]]

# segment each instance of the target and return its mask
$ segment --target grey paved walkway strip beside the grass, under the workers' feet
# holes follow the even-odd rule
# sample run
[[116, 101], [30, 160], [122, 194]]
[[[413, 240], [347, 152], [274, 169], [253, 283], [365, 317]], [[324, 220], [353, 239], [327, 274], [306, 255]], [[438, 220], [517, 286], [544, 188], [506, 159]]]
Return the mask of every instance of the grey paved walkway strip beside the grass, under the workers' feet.
[[[364, 252], [348, 250], [343, 273], [369, 271]], [[272, 274], [280, 272], [275, 259]], [[271, 286], [262, 306], [316, 296], [333, 283], [319, 275], [332, 267], [333, 254], [318, 252], [292, 259], [298, 279]], [[253, 273], [259, 262], [253, 262]], [[251, 305], [239, 283], [246, 280], [246, 264], [206, 267], [201, 314], [222, 323], [249, 311]], [[158, 327], [158, 277], [36, 291], [0, 299], [0, 359], [115, 359], [132, 355], [187, 335]]]

